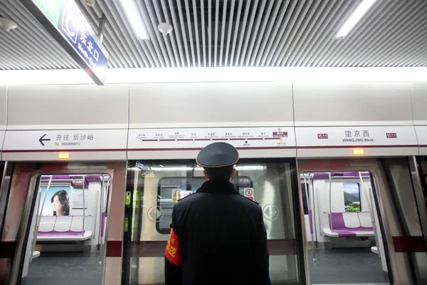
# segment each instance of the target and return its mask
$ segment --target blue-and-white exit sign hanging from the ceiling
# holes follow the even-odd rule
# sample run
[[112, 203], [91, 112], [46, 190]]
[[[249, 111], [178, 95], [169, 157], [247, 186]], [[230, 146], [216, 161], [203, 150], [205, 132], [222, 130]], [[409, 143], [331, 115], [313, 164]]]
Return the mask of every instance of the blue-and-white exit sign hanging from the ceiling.
[[21, 0], [31, 14], [97, 83], [104, 85], [108, 53], [74, 0]]

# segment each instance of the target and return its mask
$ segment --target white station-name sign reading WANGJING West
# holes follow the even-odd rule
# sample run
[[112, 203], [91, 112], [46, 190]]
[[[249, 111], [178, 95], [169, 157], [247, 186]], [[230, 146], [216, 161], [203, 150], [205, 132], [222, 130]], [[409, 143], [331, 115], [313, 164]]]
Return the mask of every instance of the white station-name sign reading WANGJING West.
[[369, 147], [417, 145], [413, 126], [295, 128], [297, 147]]

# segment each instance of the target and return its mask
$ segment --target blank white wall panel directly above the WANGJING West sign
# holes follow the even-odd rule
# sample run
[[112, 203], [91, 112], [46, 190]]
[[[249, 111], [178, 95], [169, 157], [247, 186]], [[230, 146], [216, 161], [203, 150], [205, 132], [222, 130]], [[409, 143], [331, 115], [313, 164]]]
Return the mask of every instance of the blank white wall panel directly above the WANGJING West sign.
[[295, 126], [412, 125], [411, 83], [294, 82]]

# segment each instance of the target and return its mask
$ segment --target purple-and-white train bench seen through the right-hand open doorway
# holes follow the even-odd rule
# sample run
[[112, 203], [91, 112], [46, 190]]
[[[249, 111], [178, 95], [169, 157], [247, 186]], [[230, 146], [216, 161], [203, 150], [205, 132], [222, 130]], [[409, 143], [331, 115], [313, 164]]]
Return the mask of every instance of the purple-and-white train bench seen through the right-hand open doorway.
[[[367, 222], [367, 214], [362, 214], [364, 222], [362, 226], [361, 218], [358, 212], [345, 212], [345, 213], [327, 213], [325, 212], [324, 224], [329, 224], [329, 227], [323, 228], [323, 234], [328, 237], [371, 237], [374, 236], [374, 228], [369, 226]], [[331, 227], [332, 222], [332, 227]]]

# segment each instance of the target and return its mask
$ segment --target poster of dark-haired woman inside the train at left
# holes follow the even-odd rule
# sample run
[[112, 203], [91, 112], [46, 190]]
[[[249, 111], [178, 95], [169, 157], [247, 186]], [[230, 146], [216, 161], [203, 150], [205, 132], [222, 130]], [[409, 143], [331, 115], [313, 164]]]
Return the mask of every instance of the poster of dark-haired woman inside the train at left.
[[[41, 187], [40, 211], [43, 216], [68, 216], [70, 215], [70, 186]], [[43, 200], [44, 205], [43, 205]], [[43, 208], [42, 208], [43, 205]]]

